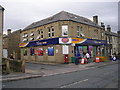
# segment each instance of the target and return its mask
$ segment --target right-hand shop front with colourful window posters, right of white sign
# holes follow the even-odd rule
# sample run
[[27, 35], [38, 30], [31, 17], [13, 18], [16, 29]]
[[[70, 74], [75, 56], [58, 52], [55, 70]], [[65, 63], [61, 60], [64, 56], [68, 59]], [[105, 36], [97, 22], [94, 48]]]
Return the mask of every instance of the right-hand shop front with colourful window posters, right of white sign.
[[91, 57], [105, 56], [105, 40], [72, 38], [72, 43], [75, 56], [79, 55], [82, 58], [86, 53]]

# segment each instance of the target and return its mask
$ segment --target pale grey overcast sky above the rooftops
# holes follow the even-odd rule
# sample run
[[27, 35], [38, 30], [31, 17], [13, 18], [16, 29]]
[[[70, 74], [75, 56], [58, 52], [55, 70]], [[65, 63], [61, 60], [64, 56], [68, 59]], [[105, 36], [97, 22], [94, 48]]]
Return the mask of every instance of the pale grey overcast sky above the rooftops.
[[[97, 2], [96, 2], [97, 1]], [[98, 15], [99, 24], [110, 25], [113, 32], [118, 30], [118, 0], [1, 0], [5, 8], [4, 33], [8, 28], [24, 29], [29, 24], [50, 17], [60, 11], [67, 11], [92, 19]]]

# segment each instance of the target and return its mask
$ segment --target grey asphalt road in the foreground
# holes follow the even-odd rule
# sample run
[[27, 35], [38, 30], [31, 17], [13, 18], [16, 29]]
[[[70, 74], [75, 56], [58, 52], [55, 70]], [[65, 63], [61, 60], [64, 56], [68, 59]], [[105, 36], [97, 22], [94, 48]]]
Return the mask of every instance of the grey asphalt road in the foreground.
[[[44, 76], [19, 81], [4, 82], [4, 88], [118, 88], [118, 64]], [[57, 89], [55, 89], [57, 90]]]

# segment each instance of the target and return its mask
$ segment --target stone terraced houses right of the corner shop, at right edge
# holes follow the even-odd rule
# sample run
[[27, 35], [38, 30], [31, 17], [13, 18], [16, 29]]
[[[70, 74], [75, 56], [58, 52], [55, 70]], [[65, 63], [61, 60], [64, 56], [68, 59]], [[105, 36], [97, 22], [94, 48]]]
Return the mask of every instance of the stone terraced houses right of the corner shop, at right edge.
[[106, 41], [107, 41], [107, 55], [111, 56], [114, 53], [118, 54], [118, 51], [119, 51], [118, 50], [119, 48], [118, 33], [112, 32], [110, 25], [108, 25], [105, 34], [106, 34]]

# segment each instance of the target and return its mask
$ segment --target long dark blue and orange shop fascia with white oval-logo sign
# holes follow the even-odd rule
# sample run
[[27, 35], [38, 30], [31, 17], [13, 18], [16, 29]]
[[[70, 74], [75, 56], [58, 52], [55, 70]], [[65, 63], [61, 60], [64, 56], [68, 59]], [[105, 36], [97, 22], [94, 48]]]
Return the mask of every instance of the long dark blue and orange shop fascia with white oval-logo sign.
[[34, 47], [53, 44], [106, 45], [107, 43], [106, 40], [60, 37], [20, 43], [19, 47]]

